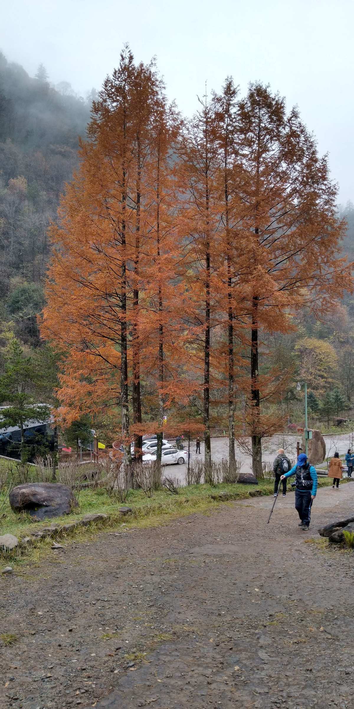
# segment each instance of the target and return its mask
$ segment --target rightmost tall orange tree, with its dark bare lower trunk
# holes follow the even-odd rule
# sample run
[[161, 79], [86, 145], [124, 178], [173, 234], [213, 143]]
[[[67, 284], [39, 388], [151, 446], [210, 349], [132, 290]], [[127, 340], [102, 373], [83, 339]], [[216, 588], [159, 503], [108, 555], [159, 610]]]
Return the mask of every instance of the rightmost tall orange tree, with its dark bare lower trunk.
[[[239, 234], [247, 264], [240, 281], [251, 335], [247, 416], [253, 472], [259, 475], [260, 332], [286, 332], [286, 313], [304, 304], [316, 311], [331, 308], [343, 293], [346, 264], [340, 257], [336, 186], [297, 109], [287, 114], [284, 99], [254, 84], [239, 102], [237, 123], [236, 189], [245, 206]], [[268, 391], [274, 386], [270, 379]]]

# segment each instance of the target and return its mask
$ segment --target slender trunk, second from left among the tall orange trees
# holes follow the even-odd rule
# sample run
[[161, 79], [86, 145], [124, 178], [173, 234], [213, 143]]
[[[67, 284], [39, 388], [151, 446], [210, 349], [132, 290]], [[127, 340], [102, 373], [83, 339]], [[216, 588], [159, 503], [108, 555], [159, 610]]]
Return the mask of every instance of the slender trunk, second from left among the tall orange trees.
[[[133, 423], [142, 423], [140, 399], [140, 352], [139, 352], [139, 251], [140, 251], [140, 201], [141, 201], [141, 150], [137, 136], [137, 220], [135, 228], [134, 289], [132, 325], [132, 414]], [[142, 461], [142, 433], [135, 435], [135, 459]]]

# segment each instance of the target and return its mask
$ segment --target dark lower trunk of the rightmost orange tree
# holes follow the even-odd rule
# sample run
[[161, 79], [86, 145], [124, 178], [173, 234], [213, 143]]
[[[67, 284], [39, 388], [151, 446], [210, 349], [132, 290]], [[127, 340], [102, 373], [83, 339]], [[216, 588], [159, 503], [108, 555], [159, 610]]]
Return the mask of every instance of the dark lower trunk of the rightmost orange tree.
[[251, 413], [252, 470], [256, 478], [262, 474], [262, 443], [259, 435], [260, 395], [258, 384], [258, 296], [252, 298], [251, 328]]

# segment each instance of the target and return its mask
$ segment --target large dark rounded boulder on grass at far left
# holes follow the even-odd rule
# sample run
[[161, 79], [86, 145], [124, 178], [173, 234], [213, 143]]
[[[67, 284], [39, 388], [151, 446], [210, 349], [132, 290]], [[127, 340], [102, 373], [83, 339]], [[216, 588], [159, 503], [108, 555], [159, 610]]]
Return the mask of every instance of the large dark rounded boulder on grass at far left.
[[69, 515], [77, 507], [70, 488], [53, 483], [18, 485], [11, 491], [9, 502], [13, 512], [28, 512], [35, 520]]

